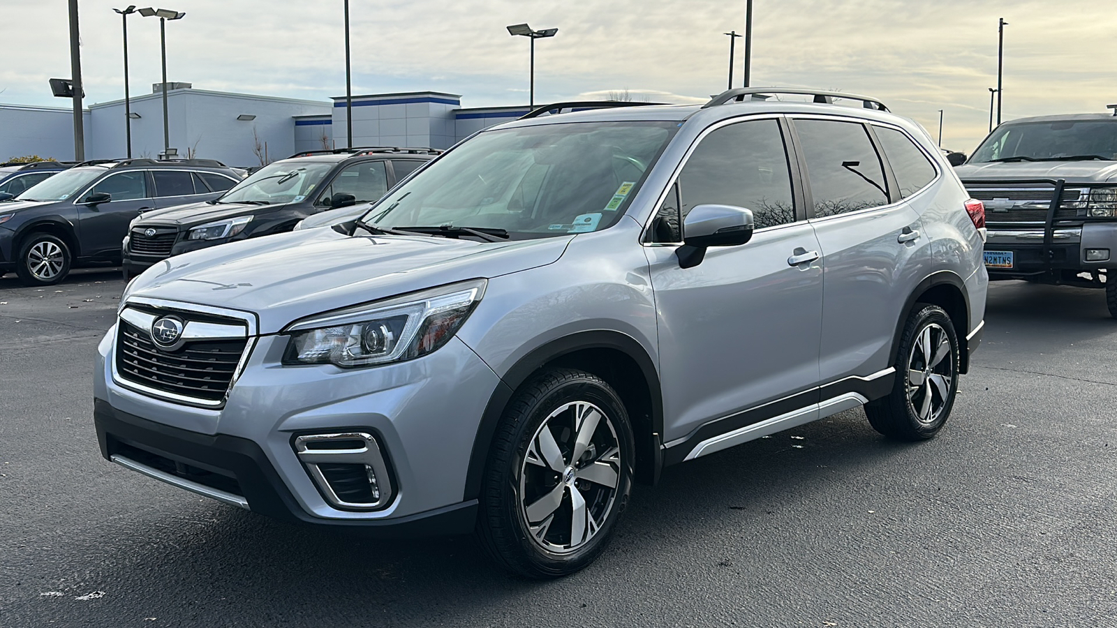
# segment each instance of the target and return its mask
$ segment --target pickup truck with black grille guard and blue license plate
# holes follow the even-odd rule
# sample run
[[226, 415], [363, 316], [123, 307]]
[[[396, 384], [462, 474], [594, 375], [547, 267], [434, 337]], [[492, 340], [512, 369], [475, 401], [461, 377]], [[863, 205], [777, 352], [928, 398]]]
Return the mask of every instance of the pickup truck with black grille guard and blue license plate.
[[990, 279], [1105, 288], [1117, 318], [1117, 116], [1006, 122], [955, 172], [985, 203]]

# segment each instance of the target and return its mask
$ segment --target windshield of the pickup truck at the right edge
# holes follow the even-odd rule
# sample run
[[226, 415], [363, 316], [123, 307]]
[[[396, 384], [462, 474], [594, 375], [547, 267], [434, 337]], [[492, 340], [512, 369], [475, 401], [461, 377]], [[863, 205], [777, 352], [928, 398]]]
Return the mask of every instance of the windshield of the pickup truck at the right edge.
[[1023, 122], [1000, 126], [970, 163], [990, 161], [1117, 160], [1117, 117]]

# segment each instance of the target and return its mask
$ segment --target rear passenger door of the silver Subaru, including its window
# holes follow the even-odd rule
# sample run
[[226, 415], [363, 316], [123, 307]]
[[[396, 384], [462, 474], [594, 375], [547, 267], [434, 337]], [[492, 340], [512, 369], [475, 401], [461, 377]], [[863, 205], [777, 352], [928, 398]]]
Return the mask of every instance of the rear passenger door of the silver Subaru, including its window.
[[825, 400], [863, 388], [863, 379], [890, 367], [897, 322], [929, 255], [919, 246], [925, 238], [919, 216], [901, 200], [868, 125], [808, 116], [793, 118], [793, 125], [825, 274], [820, 349]]

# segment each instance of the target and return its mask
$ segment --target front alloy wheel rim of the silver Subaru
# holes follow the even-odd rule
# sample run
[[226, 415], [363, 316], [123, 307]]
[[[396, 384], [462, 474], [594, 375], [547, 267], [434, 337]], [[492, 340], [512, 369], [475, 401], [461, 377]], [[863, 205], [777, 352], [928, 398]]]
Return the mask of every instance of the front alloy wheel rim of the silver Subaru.
[[601, 530], [617, 501], [617, 429], [589, 401], [564, 403], [536, 430], [519, 469], [519, 512], [532, 540], [570, 553]]

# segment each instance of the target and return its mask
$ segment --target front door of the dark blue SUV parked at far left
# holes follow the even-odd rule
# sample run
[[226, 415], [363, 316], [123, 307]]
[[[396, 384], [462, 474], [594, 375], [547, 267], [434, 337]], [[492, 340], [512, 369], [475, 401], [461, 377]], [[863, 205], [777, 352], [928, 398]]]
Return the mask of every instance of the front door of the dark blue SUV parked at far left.
[[[108, 193], [113, 200], [84, 204], [90, 194]], [[128, 232], [128, 222], [142, 211], [154, 208], [143, 170], [114, 172], [86, 190], [77, 204], [78, 236], [83, 257], [115, 258], [121, 255], [121, 241]]]

